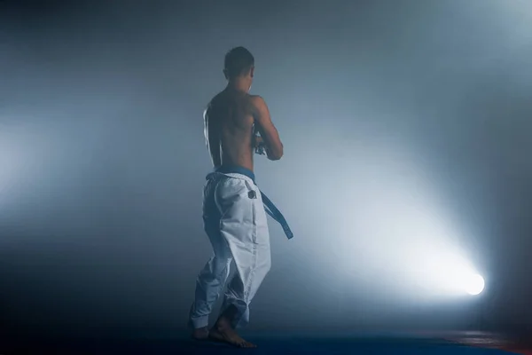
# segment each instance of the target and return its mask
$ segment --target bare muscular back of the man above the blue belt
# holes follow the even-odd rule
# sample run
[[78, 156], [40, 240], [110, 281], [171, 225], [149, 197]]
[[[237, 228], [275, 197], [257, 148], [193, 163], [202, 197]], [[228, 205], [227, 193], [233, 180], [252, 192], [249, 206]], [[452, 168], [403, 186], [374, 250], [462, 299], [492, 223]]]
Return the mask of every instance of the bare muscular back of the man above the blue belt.
[[205, 138], [214, 166], [239, 165], [253, 171], [254, 114], [250, 95], [225, 90], [204, 114]]

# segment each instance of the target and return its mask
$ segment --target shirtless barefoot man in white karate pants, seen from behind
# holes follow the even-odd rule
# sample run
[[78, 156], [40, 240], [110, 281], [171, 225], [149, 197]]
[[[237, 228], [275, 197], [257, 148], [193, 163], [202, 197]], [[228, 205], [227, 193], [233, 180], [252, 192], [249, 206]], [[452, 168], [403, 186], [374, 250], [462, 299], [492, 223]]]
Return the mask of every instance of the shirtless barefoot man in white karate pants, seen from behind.
[[[195, 339], [254, 347], [235, 330], [248, 322], [249, 304], [270, 271], [270, 235], [262, 194], [254, 184], [254, 149], [265, 148], [267, 157], [277, 161], [283, 156], [283, 144], [264, 100], [248, 94], [254, 78], [253, 55], [243, 47], [232, 49], [225, 56], [223, 74], [227, 87], [204, 114], [215, 172], [207, 176], [204, 187], [203, 220], [214, 256], [196, 280], [190, 320]], [[222, 312], [209, 330], [208, 316], [232, 260], [237, 272], [224, 295]]]

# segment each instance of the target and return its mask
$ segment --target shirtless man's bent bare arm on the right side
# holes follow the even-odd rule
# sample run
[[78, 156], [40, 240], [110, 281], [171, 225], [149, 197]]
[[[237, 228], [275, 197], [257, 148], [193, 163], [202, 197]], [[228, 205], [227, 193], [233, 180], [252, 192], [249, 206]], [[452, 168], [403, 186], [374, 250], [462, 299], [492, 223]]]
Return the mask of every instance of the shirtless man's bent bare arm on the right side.
[[270, 110], [260, 96], [252, 96], [251, 102], [255, 127], [261, 133], [266, 146], [266, 155], [270, 161], [278, 161], [283, 156], [283, 143], [279, 138], [278, 130], [271, 122]]

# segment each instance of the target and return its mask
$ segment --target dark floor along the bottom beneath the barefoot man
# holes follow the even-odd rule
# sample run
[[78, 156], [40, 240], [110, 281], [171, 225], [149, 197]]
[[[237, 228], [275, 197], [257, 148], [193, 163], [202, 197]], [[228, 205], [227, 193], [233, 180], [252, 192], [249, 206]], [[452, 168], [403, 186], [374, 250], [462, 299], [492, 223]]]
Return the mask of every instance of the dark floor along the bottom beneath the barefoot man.
[[239, 350], [219, 343], [175, 339], [32, 339], [5, 340], [0, 355], [9, 354], [210, 354], [246, 351], [254, 354], [508, 354], [518, 349], [508, 337], [481, 332], [446, 334], [275, 335], [250, 333], [258, 348]]

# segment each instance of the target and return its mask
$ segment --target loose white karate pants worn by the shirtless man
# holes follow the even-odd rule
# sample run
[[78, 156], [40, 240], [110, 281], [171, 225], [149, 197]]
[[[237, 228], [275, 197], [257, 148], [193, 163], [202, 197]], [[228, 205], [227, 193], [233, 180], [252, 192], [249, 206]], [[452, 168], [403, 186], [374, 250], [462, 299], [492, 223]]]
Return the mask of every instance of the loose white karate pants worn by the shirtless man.
[[213, 173], [203, 192], [203, 221], [214, 255], [196, 280], [190, 323], [194, 328], [207, 327], [234, 260], [237, 272], [225, 292], [222, 312], [234, 305], [238, 312], [232, 326], [245, 327], [249, 304], [271, 266], [261, 192], [245, 175]]

